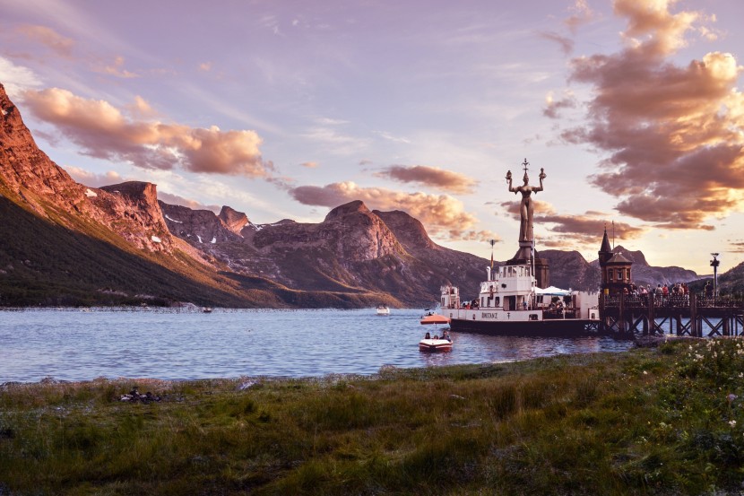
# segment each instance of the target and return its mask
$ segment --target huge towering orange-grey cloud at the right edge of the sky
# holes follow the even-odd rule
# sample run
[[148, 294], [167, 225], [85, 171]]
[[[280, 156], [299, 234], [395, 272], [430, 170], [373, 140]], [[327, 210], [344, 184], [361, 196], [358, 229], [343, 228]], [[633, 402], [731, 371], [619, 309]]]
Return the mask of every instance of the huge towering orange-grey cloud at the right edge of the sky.
[[687, 66], [670, 56], [688, 32], [709, 21], [698, 12], [670, 13], [673, 2], [616, 0], [627, 17], [627, 48], [579, 57], [570, 79], [593, 86], [586, 126], [565, 141], [609, 156], [590, 180], [619, 198], [619, 213], [667, 229], [713, 229], [705, 223], [744, 205], [744, 68], [712, 52]]

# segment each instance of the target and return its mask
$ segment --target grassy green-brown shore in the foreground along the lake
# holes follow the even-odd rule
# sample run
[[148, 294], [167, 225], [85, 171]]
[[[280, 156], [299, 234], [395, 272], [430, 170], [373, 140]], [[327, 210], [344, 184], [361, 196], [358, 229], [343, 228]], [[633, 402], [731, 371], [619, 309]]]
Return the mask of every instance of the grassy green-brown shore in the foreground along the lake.
[[[0, 494], [740, 494], [744, 341], [0, 387]], [[133, 387], [160, 401], [123, 402]]]

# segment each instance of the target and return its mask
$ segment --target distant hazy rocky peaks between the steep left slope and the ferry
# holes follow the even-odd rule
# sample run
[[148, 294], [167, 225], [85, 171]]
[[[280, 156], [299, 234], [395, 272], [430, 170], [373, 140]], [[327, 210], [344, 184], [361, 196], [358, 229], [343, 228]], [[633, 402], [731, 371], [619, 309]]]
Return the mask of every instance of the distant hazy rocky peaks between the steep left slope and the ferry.
[[236, 274], [301, 291], [372, 291], [395, 305], [420, 306], [435, 303], [443, 284], [474, 291], [485, 275], [484, 258], [440, 247], [409, 214], [371, 212], [361, 201], [318, 223], [255, 225], [230, 209], [230, 219], [239, 220], [232, 231], [223, 215], [229, 207], [220, 215], [162, 202], [160, 208], [172, 233]]

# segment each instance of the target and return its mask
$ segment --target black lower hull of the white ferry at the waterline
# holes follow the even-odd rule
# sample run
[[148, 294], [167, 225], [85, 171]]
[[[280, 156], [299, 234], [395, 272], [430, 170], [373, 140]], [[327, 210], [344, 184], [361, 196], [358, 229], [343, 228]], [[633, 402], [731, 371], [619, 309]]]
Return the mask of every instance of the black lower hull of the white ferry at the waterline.
[[453, 333], [475, 333], [483, 335], [575, 337], [596, 335], [596, 322], [596, 320], [580, 318], [521, 322], [452, 318], [450, 320], [450, 329]]

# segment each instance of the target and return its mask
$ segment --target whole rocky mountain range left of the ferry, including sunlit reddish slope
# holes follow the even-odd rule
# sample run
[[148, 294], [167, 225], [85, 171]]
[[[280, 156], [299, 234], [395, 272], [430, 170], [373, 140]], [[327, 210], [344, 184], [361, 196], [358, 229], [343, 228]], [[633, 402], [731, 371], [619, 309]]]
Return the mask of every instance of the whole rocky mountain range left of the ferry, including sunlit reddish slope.
[[255, 225], [227, 205], [159, 202], [151, 183], [86, 187], [39, 150], [2, 85], [0, 109], [0, 305], [419, 306], [482, 278], [484, 259], [362, 202]]

